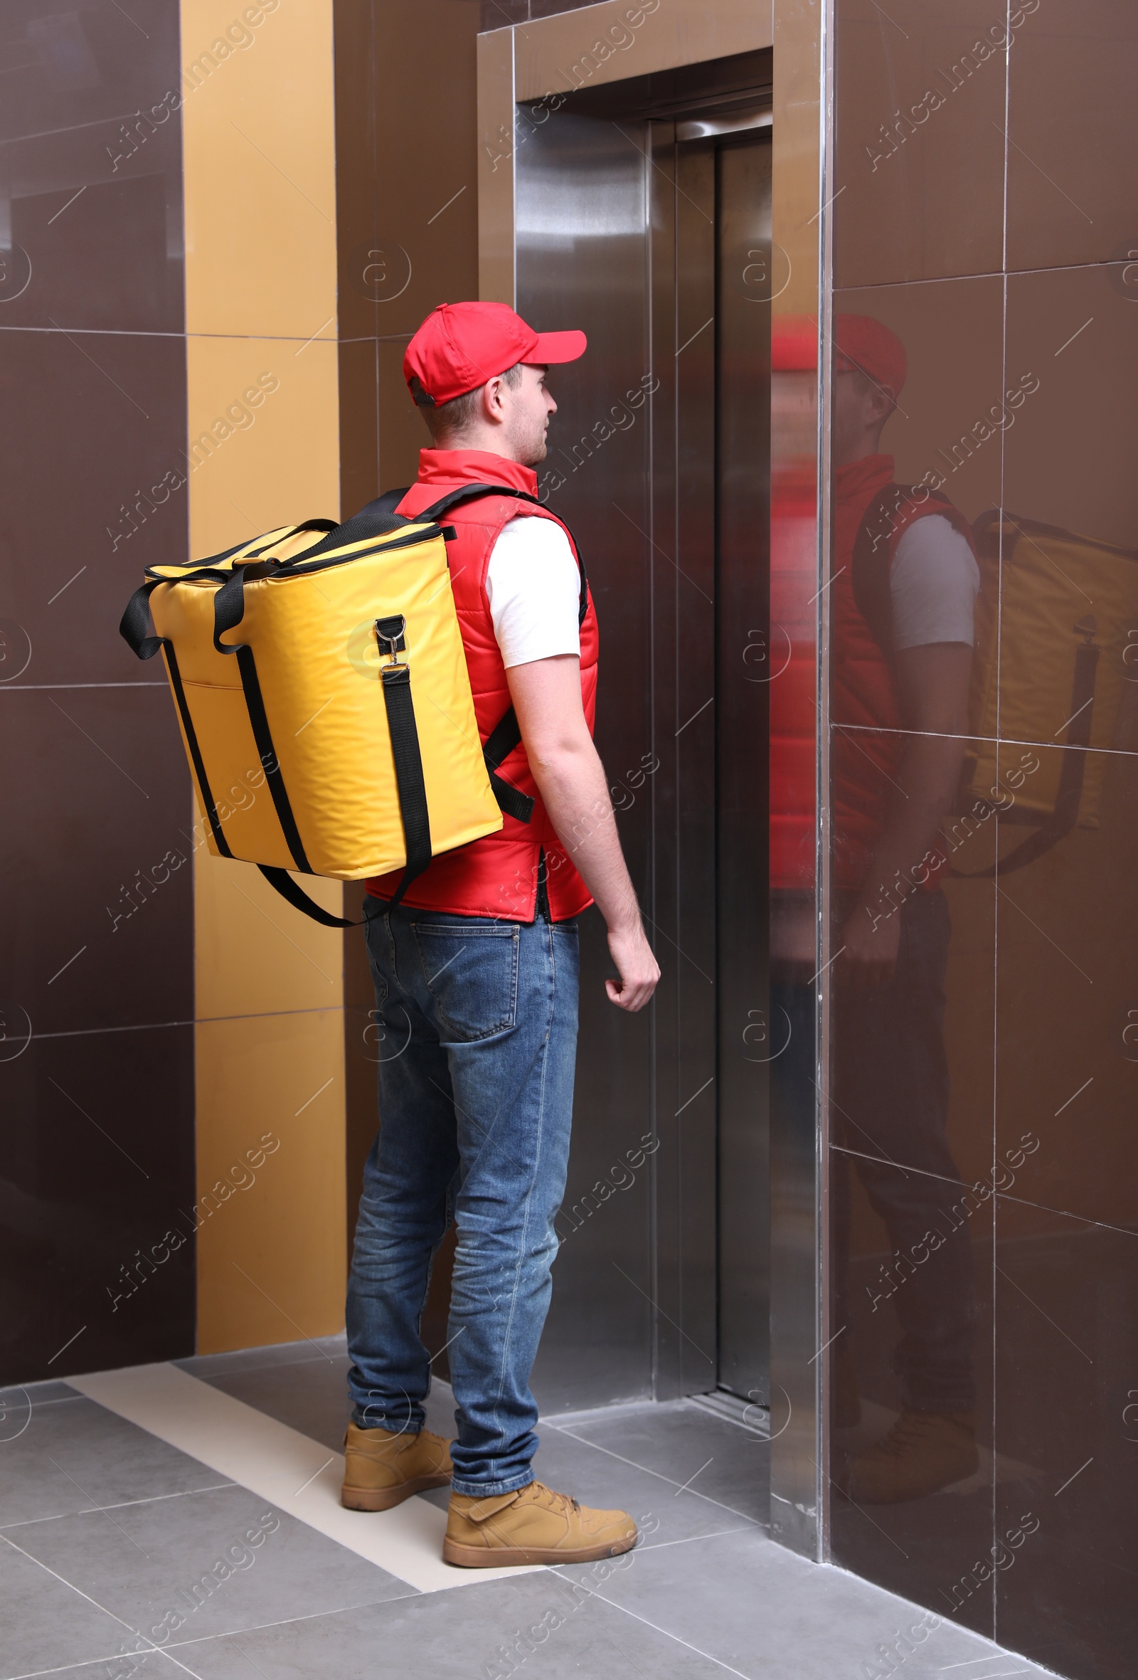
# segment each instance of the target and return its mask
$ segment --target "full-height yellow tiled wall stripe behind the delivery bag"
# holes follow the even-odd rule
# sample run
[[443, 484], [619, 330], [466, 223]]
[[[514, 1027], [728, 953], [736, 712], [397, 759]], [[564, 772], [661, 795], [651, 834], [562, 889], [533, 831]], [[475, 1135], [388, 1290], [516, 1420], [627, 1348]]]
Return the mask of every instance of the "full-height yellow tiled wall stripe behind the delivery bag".
[[[181, 45], [198, 558], [339, 514], [332, 3], [183, 0]], [[337, 882], [311, 890], [339, 909]], [[255, 1184], [201, 1223], [200, 1347], [332, 1331], [344, 1307], [342, 942], [205, 845], [195, 900], [200, 1196], [240, 1173], [262, 1134], [280, 1139]]]

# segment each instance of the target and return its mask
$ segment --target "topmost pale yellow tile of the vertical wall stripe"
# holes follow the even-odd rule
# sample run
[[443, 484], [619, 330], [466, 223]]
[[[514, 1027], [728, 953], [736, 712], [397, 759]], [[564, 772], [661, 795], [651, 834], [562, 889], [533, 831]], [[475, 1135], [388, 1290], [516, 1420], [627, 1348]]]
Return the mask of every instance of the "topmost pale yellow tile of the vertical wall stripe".
[[181, 5], [188, 333], [336, 331], [332, 3], [270, 7]]

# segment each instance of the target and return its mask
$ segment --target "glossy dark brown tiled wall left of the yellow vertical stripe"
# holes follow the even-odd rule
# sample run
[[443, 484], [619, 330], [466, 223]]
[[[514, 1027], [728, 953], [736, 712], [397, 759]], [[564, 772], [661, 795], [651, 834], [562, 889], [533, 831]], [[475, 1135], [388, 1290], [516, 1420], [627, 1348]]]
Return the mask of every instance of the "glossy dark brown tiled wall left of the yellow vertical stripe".
[[190, 780], [117, 635], [186, 554], [178, 13], [131, 12], [10, 0], [0, 47], [5, 1383], [195, 1336]]

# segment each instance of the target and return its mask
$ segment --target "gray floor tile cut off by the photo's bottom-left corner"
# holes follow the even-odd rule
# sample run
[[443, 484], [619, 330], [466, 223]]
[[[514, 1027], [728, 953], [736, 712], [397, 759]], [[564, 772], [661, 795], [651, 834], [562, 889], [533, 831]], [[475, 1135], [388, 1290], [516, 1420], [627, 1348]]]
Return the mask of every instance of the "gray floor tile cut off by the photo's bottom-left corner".
[[114, 1616], [89, 1604], [2, 1537], [0, 1604], [0, 1672], [5, 1675], [112, 1656], [126, 1636]]

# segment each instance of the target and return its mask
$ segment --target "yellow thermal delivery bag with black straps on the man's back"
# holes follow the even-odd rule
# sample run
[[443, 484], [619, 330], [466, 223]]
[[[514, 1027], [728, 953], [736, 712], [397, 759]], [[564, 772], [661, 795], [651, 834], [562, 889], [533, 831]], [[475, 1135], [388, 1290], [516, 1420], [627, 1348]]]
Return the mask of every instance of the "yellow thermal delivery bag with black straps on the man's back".
[[[245, 858], [297, 909], [349, 926], [289, 870], [361, 880], [529, 820], [497, 764], [507, 712], [478, 739], [446, 568], [445, 506], [416, 519], [369, 504], [354, 519], [282, 526], [210, 559], [149, 566], [123, 615], [139, 659], [161, 647], [218, 857]], [[507, 492], [509, 494], [509, 492]], [[156, 635], [146, 635], [148, 610]]]

